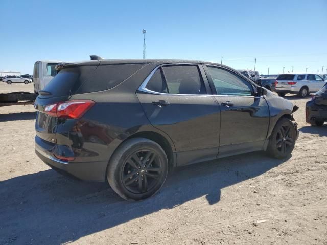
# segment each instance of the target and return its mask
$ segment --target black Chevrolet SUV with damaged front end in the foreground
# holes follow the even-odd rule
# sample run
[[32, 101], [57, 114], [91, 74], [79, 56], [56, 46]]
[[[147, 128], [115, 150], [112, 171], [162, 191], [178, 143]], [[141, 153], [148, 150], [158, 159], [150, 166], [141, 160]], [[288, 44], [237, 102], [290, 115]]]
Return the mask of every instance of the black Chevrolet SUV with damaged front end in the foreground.
[[227, 66], [185, 60], [60, 64], [35, 101], [36, 154], [126, 200], [155, 194], [169, 168], [252, 151], [284, 158], [296, 106]]

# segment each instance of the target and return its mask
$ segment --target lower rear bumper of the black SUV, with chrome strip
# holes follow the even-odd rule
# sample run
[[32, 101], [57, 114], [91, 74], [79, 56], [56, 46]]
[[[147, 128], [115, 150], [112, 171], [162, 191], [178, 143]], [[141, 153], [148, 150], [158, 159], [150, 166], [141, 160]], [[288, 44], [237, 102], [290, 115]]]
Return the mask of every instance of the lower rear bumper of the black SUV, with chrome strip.
[[86, 181], [104, 182], [108, 162], [64, 162], [56, 159], [51, 152], [35, 143], [36, 155], [48, 166]]

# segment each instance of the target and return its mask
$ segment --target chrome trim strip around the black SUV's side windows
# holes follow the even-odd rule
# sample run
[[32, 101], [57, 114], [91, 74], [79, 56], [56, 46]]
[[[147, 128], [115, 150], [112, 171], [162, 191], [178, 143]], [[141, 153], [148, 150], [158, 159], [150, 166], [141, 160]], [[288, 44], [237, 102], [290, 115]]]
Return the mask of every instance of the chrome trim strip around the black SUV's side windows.
[[200, 97], [212, 97], [212, 96], [216, 96], [216, 97], [246, 97], [246, 98], [261, 98], [261, 97], [265, 97], [265, 96], [259, 96], [259, 97], [255, 97], [253, 95], [251, 96], [243, 96], [243, 95], [218, 95], [218, 94], [178, 94], [178, 93], [159, 93], [159, 92], [155, 92], [152, 90], [149, 90], [146, 88], [148, 82], [150, 81], [151, 77], [153, 76], [153, 74], [157, 71], [157, 69], [161, 68], [162, 66], [167, 66], [167, 65], [200, 65], [198, 63], [172, 63], [172, 64], [162, 64], [159, 65], [157, 67], [155, 67], [150, 74], [146, 77], [146, 79], [142, 82], [141, 86], [139, 86], [139, 88], [137, 89], [137, 91], [141, 91], [141, 92], [145, 92], [145, 93], [150, 93], [150, 94], [156, 94], [156, 95], [166, 95], [166, 96], [200, 96]]

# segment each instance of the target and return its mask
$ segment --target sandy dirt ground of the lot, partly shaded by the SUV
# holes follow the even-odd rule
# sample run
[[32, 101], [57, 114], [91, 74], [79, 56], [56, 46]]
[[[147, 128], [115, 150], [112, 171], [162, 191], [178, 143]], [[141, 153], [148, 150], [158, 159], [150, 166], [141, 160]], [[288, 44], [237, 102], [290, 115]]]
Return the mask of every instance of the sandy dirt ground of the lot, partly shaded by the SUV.
[[34, 153], [33, 106], [0, 107], [0, 244], [327, 244], [327, 124], [306, 124], [309, 99], [286, 98], [300, 107], [291, 158], [256, 152], [180, 168], [134, 203], [51, 170]]

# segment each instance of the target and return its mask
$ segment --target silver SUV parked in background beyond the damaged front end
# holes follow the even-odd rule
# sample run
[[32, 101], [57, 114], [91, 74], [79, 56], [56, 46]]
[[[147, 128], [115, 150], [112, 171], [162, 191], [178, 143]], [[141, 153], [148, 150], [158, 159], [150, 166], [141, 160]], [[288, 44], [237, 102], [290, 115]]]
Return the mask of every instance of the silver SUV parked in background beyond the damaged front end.
[[281, 74], [277, 77], [276, 92], [284, 97], [287, 93], [297, 94], [304, 98], [315, 93], [325, 84], [318, 74]]

